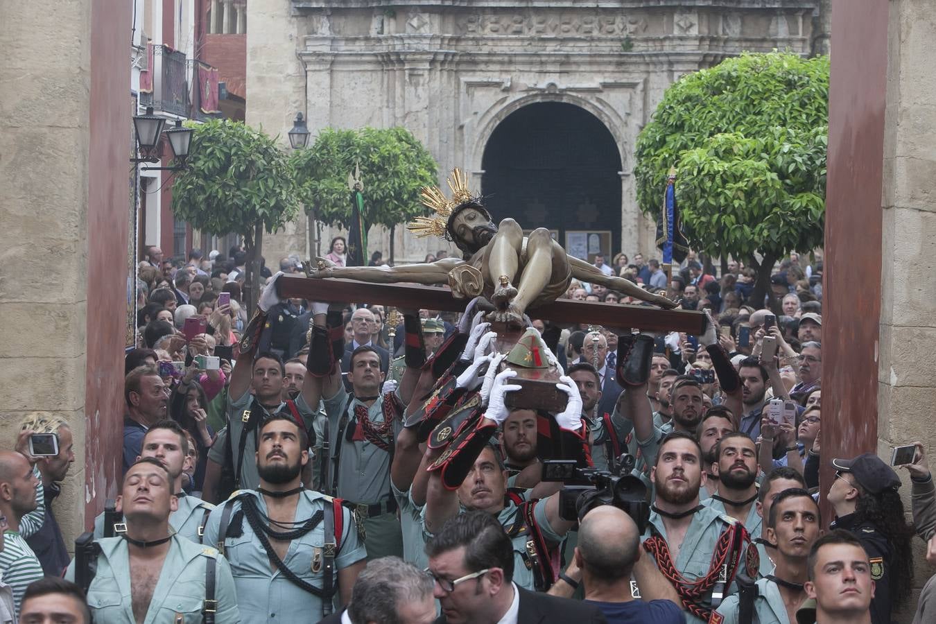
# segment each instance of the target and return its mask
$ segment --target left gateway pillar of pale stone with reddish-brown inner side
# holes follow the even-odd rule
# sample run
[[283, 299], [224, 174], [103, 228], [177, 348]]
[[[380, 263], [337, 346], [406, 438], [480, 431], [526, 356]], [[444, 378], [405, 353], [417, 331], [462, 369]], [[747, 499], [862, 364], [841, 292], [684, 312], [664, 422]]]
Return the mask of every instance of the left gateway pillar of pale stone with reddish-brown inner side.
[[0, 5], [0, 446], [26, 414], [69, 423], [76, 461], [55, 502], [69, 544], [120, 477], [130, 11]]

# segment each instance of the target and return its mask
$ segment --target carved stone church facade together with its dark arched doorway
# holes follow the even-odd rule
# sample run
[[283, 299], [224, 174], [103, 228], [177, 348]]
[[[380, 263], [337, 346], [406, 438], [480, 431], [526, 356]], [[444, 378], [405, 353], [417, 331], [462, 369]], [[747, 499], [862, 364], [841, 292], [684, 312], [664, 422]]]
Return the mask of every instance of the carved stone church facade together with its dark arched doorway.
[[[587, 7], [585, 5], [588, 5]], [[563, 244], [653, 254], [634, 149], [666, 87], [742, 51], [827, 51], [822, 0], [273, 0], [251, 3], [246, 121], [313, 135], [402, 125], [444, 176], [462, 167], [495, 220]], [[364, 172], [366, 177], [366, 172]], [[366, 179], [365, 179], [366, 184]], [[322, 253], [337, 232], [321, 231]], [[397, 261], [446, 248], [402, 228]], [[572, 238], [569, 238], [572, 237]], [[578, 238], [576, 238], [578, 237]], [[371, 232], [370, 251], [389, 249]], [[265, 255], [309, 256], [300, 219]]]

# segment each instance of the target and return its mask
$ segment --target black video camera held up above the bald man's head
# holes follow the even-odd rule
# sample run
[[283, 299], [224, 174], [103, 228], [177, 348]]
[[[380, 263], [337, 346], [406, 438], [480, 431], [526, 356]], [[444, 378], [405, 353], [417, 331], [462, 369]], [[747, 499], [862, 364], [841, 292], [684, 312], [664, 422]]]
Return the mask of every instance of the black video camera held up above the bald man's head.
[[543, 481], [563, 482], [559, 492], [559, 516], [578, 522], [600, 505], [614, 505], [634, 520], [643, 534], [650, 521], [647, 486], [630, 472], [636, 460], [623, 454], [615, 464], [618, 472], [578, 468], [575, 459], [547, 459], [543, 462]]

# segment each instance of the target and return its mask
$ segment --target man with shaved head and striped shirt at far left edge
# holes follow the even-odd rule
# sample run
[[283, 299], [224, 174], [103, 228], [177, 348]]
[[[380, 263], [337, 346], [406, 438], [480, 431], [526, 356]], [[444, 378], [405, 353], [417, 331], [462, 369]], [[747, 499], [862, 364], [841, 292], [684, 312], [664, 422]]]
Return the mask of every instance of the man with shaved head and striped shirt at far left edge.
[[20, 433], [18, 451], [0, 451], [0, 516], [7, 517], [0, 552], [0, 578], [13, 589], [13, 605], [20, 610], [22, 594], [42, 578], [42, 565], [26, 538], [42, 527], [46, 514], [45, 492], [36, 470], [37, 457], [25, 454], [31, 430]]

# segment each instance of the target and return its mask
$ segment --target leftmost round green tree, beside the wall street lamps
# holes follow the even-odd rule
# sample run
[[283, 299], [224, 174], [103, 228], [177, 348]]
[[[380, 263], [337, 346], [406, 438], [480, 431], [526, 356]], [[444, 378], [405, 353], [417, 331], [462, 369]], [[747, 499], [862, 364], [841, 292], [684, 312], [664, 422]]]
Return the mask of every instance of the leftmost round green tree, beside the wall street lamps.
[[244, 123], [211, 120], [193, 127], [186, 167], [172, 185], [172, 211], [210, 234], [243, 237], [243, 301], [252, 313], [263, 231], [273, 233], [299, 214], [293, 169], [273, 138]]

